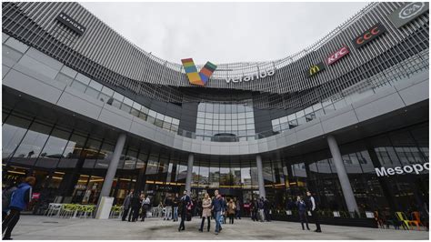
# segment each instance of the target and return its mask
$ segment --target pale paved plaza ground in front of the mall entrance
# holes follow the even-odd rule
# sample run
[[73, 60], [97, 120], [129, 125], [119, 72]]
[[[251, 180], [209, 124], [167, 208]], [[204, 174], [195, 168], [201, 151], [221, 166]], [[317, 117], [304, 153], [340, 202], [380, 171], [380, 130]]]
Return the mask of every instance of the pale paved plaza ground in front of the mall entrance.
[[[303, 231], [299, 223], [253, 222], [250, 218], [236, 220], [234, 225], [223, 225], [222, 233], [214, 234], [214, 220], [210, 232], [197, 231], [200, 218], [185, 223], [185, 231], [178, 232], [179, 222], [149, 218], [145, 222], [122, 222], [120, 219], [56, 218], [22, 216], [12, 233], [14, 239], [428, 239], [429, 232], [364, 227], [323, 225], [323, 233]], [[315, 226], [311, 225], [314, 229]]]

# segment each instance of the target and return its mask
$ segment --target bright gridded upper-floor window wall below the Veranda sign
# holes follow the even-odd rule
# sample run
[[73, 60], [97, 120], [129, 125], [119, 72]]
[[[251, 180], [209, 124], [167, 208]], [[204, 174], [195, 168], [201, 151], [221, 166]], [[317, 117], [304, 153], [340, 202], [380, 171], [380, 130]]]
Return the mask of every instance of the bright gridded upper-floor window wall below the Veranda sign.
[[[255, 116], [251, 100], [243, 104], [200, 103], [197, 107], [196, 138], [208, 141], [254, 140]], [[219, 138], [217, 138], [219, 137]]]

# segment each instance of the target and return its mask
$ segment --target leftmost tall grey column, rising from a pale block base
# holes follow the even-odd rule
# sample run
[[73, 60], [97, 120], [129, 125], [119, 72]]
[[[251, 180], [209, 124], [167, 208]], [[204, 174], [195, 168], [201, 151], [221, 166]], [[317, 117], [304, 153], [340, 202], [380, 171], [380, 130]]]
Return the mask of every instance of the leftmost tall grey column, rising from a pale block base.
[[109, 162], [108, 170], [106, 171], [104, 185], [102, 186], [102, 191], [100, 192], [99, 202], [102, 197], [108, 197], [111, 191], [112, 182], [114, 181], [116, 168], [118, 162], [120, 161], [121, 153], [125, 146], [125, 134], [120, 134], [116, 140], [116, 145], [114, 149], [114, 154], [112, 155], [111, 162]]

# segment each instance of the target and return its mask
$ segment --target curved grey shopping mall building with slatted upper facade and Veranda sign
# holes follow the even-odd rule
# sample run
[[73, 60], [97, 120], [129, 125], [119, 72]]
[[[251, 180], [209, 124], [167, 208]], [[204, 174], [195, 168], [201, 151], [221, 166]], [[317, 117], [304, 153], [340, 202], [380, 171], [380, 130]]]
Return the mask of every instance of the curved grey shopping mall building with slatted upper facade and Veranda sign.
[[132, 188], [427, 207], [427, 3], [372, 3], [294, 55], [215, 64], [205, 86], [77, 3], [2, 10], [2, 184], [36, 176], [35, 213]]

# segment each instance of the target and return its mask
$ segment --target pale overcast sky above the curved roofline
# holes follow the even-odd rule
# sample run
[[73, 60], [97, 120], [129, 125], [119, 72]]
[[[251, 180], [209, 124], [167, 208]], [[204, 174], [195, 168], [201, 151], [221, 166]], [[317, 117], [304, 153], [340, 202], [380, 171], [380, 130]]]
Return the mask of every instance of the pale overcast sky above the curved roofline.
[[174, 63], [266, 61], [294, 54], [359, 3], [81, 3], [120, 35]]

